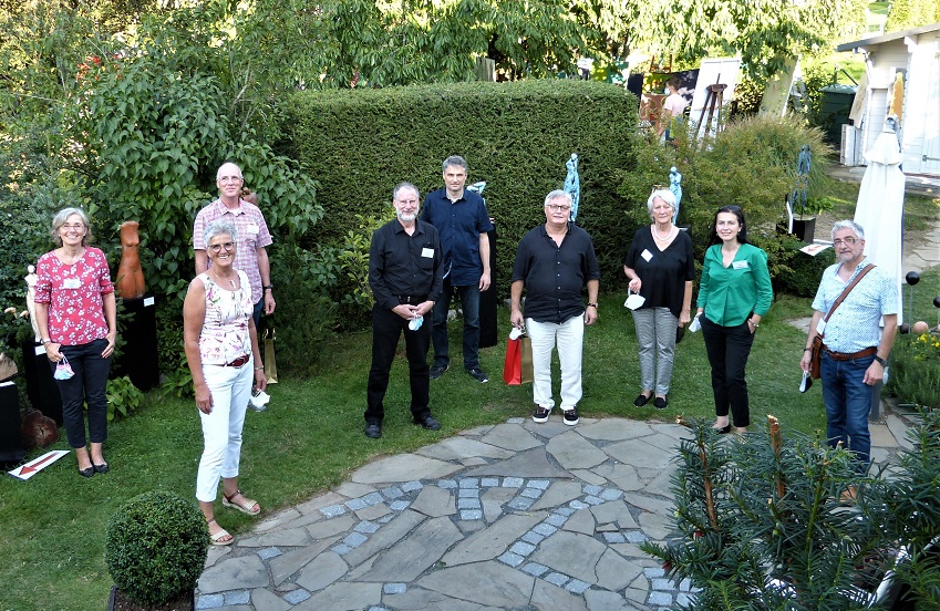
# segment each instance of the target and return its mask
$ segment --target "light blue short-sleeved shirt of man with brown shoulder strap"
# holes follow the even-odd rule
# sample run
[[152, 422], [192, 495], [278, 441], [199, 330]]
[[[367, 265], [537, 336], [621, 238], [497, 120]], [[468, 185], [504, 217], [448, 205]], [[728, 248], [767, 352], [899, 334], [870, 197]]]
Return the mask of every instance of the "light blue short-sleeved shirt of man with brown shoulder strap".
[[[870, 265], [867, 259], [861, 261], [848, 282], [839, 278], [841, 263], [826, 268], [813, 300], [813, 309], [823, 312], [825, 318], [848, 283]], [[881, 341], [881, 317], [897, 313], [898, 286], [887, 272], [876, 267], [859, 280], [826, 322], [823, 343], [829, 350], [848, 354], [877, 346]]]

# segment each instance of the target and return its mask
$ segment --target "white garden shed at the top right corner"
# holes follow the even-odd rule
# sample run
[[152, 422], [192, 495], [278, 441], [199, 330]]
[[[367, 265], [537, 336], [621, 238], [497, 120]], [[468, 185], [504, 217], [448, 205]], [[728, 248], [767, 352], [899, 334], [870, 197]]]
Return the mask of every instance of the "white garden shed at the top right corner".
[[836, 46], [865, 54], [866, 74], [843, 128], [841, 160], [862, 165], [885, 130], [898, 116], [905, 174], [940, 177], [940, 23], [871, 37]]

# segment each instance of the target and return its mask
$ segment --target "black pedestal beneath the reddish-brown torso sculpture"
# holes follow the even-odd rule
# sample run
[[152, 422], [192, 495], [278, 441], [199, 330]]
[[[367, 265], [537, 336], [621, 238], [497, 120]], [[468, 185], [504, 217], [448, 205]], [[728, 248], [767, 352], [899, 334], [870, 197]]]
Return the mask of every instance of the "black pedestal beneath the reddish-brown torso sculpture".
[[159, 385], [159, 360], [156, 345], [156, 300], [153, 296], [125, 299], [124, 310], [134, 318], [122, 331], [121, 358], [114, 362], [114, 375], [127, 375], [142, 391]]

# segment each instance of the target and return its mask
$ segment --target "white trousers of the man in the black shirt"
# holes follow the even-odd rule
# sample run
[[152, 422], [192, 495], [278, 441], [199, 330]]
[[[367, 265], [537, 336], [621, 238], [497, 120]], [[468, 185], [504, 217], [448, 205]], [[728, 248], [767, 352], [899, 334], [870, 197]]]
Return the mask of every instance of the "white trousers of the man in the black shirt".
[[581, 350], [585, 344], [585, 317], [571, 317], [561, 324], [526, 319], [533, 344], [533, 400], [551, 410], [551, 351], [558, 348], [561, 363], [561, 410], [574, 410], [581, 401]]

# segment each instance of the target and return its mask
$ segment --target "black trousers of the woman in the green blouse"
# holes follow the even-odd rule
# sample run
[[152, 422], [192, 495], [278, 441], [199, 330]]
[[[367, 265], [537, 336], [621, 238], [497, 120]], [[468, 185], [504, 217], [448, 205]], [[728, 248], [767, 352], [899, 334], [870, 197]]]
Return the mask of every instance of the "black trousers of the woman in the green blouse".
[[747, 403], [747, 380], [744, 367], [754, 343], [754, 334], [747, 321], [737, 327], [722, 327], [701, 317], [702, 339], [712, 365], [712, 392], [715, 395], [715, 415], [726, 416], [731, 408], [732, 424], [751, 424], [751, 406]]

